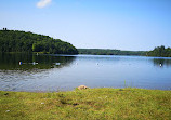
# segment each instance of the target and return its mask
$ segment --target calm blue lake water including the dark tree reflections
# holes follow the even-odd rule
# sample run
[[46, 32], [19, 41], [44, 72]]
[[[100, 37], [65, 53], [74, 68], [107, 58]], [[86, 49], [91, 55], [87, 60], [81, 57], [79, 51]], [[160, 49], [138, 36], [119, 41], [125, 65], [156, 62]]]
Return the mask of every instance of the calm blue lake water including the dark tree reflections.
[[171, 58], [0, 54], [1, 91], [67, 91], [81, 84], [171, 90]]

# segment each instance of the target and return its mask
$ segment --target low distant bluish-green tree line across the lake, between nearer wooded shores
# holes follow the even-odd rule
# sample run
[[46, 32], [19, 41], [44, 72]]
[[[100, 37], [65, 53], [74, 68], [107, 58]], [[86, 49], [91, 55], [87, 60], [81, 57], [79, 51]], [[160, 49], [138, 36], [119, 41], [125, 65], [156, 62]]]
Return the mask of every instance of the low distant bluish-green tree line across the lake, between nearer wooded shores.
[[93, 55], [146, 55], [146, 51], [120, 51], [108, 49], [78, 49], [79, 54]]

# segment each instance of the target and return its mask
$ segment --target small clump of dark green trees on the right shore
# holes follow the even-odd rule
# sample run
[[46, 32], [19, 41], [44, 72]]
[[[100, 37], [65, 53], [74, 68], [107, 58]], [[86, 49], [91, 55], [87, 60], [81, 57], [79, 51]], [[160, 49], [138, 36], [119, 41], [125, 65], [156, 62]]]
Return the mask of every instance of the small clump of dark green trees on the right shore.
[[147, 52], [147, 56], [171, 57], [171, 48], [157, 46], [153, 51]]

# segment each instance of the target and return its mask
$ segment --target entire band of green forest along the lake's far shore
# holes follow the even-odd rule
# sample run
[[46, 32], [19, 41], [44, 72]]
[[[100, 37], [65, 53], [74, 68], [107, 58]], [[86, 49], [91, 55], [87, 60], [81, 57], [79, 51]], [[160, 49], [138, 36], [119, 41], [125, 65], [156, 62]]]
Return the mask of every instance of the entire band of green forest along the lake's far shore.
[[121, 51], [110, 49], [76, 49], [73, 44], [49, 36], [30, 31], [0, 30], [1, 53], [40, 53], [40, 54], [92, 54], [92, 55], [137, 55], [171, 57], [171, 48], [163, 45], [153, 51]]

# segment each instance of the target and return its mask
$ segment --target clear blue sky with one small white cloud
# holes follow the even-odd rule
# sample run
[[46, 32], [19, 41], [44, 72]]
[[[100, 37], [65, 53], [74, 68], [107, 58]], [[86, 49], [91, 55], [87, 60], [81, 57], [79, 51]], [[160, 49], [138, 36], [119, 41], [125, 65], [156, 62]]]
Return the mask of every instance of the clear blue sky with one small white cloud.
[[153, 50], [171, 46], [171, 0], [1, 0], [3, 27], [82, 49]]

